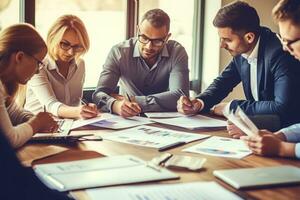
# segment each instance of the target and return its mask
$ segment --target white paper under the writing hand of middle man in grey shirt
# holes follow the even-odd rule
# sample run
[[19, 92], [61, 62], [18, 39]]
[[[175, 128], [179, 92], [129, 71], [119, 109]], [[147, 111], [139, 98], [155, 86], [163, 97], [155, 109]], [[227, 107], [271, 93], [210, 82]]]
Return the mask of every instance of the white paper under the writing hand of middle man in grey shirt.
[[106, 119], [97, 121], [92, 126], [109, 128], [109, 129], [123, 129], [123, 128], [131, 128], [134, 126], [145, 125], [145, 124], [153, 124], [154, 122], [149, 120], [148, 118], [134, 116], [124, 118], [118, 115], [106, 114], [111, 117], [107, 117]]

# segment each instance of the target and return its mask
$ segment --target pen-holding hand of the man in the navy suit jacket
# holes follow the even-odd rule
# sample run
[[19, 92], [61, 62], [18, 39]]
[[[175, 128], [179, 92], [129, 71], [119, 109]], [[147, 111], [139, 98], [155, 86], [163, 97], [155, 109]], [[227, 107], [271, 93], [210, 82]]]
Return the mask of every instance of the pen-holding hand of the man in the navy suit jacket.
[[197, 99], [190, 100], [186, 96], [181, 96], [177, 101], [177, 111], [185, 115], [196, 114], [202, 107], [201, 101]]

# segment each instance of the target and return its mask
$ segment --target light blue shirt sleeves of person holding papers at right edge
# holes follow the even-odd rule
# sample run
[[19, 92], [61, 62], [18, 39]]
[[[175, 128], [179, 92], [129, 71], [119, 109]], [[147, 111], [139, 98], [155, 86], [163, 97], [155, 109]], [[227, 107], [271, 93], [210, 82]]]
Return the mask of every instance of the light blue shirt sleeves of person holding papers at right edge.
[[300, 123], [281, 129], [280, 132], [285, 135], [287, 142], [296, 143], [295, 155], [300, 159]]

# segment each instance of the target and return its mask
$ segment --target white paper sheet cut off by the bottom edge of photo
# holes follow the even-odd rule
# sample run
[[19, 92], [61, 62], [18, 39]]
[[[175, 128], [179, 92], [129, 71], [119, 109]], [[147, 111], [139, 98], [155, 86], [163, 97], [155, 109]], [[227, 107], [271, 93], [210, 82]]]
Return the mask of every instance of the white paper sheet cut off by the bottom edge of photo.
[[91, 200], [242, 200], [215, 182], [135, 185], [89, 189]]

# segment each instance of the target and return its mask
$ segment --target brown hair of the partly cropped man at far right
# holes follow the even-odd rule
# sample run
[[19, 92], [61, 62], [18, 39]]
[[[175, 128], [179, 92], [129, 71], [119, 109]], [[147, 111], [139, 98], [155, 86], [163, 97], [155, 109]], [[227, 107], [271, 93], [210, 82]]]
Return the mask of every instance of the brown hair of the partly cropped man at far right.
[[294, 24], [300, 25], [300, 1], [281, 0], [272, 11], [275, 21], [292, 20]]

